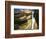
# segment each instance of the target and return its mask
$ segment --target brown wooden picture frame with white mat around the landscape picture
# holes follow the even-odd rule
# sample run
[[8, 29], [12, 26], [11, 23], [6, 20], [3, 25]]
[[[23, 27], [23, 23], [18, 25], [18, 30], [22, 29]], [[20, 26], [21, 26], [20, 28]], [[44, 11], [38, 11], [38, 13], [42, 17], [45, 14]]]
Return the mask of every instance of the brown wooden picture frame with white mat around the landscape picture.
[[[37, 8], [36, 8], [37, 7]], [[14, 9], [14, 10], [13, 10]], [[15, 11], [37, 11], [39, 9], [39, 28], [38, 29], [21, 29], [14, 28]], [[30, 12], [30, 11], [29, 11]], [[35, 12], [36, 13], [36, 12]], [[42, 15], [41, 15], [42, 14]], [[22, 14], [21, 14], [22, 15]], [[15, 16], [16, 17], [16, 16]], [[40, 19], [41, 17], [41, 19]], [[41, 21], [41, 22], [40, 22]], [[15, 22], [16, 23], [16, 22]], [[33, 22], [32, 22], [33, 23]], [[15, 30], [15, 32], [14, 32]], [[45, 4], [36, 2], [18, 2], [18, 1], [5, 1], [5, 38], [16, 38], [16, 37], [34, 37], [45, 35]]]

